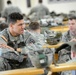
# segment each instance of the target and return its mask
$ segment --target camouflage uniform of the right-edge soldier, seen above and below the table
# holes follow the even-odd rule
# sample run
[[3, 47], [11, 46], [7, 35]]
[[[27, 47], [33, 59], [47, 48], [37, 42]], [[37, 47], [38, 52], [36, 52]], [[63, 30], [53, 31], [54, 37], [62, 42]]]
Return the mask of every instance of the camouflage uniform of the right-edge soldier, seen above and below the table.
[[[61, 42], [68, 42], [71, 40], [70, 32], [67, 31], [62, 34]], [[70, 46], [66, 49], [62, 49], [58, 52], [59, 54], [59, 60], [58, 63], [65, 63], [66, 61], [70, 60]]]

